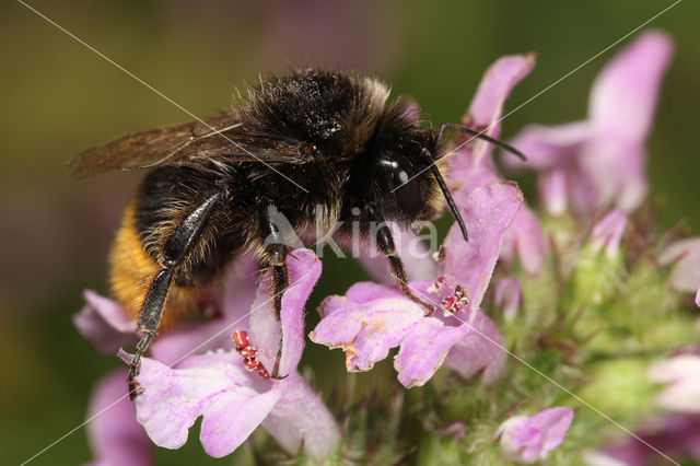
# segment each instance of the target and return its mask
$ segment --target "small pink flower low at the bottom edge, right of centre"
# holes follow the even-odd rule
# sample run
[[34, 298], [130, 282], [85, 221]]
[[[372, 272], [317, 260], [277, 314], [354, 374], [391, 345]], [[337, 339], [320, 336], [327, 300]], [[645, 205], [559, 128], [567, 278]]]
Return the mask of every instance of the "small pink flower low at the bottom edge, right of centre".
[[514, 416], [501, 424], [501, 452], [516, 463], [545, 459], [563, 441], [573, 421], [571, 408], [557, 406], [539, 411], [532, 418]]

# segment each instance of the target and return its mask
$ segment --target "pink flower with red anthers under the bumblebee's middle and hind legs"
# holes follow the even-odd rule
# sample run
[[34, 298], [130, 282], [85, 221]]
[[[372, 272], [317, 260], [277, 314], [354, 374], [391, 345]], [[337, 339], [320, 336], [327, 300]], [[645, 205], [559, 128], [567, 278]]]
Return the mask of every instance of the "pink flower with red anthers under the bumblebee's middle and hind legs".
[[[268, 272], [248, 322], [240, 324], [246, 330], [236, 330], [237, 335], [245, 331], [250, 342], [245, 347], [246, 358], [244, 348], [222, 349], [189, 357], [177, 369], [142, 359], [137, 382], [143, 392], [136, 399], [137, 419], [155, 444], [180, 447], [201, 416], [200, 441], [211, 456], [230, 454], [259, 424], [291, 453], [303, 444], [310, 456], [323, 459], [332, 451], [338, 428], [296, 372], [304, 346], [304, 305], [320, 275], [320, 261], [313, 252], [296, 249], [287, 266], [291, 286], [282, 296], [281, 328], [272, 315]], [[284, 336], [280, 372], [285, 377], [270, 380], [280, 331]], [[129, 360], [126, 353], [121, 356]]]

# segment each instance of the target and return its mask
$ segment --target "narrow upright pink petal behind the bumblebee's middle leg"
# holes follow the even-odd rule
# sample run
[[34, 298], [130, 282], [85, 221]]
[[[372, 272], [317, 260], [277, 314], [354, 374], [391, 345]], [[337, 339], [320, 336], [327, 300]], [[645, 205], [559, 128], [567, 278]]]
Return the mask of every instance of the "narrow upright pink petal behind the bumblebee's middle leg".
[[322, 264], [310, 249], [295, 249], [287, 257], [290, 287], [282, 295], [282, 311], [277, 322], [270, 293], [272, 271], [262, 277], [249, 317], [250, 331], [255, 336], [258, 357], [266, 368], [273, 365], [280, 343], [280, 328], [283, 331], [280, 374], [296, 371], [304, 350], [304, 306], [312, 289], [320, 277]]

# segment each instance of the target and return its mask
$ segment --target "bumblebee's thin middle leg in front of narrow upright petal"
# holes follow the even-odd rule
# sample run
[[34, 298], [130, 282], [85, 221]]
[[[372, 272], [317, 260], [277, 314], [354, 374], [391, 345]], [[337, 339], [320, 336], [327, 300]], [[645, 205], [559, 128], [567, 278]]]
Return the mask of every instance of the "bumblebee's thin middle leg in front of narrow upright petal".
[[[271, 212], [277, 212], [273, 206], [267, 206], [264, 213], [264, 230], [267, 233], [265, 241], [265, 253], [267, 255], [267, 263], [272, 267], [272, 304], [275, 307], [275, 317], [280, 321], [280, 314], [282, 312], [282, 295], [289, 288], [289, 270], [284, 260], [289, 247], [284, 244], [284, 235], [280, 229], [280, 225], [275, 223]], [[284, 378], [287, 375], [280, 375], [280, 361], [282, 359], [282, 342], [284, 336], [280, 330], [280, 345], [277, 349], [277, 357], [275, 358], [275, 366], [270, 376], [272, 378]]]

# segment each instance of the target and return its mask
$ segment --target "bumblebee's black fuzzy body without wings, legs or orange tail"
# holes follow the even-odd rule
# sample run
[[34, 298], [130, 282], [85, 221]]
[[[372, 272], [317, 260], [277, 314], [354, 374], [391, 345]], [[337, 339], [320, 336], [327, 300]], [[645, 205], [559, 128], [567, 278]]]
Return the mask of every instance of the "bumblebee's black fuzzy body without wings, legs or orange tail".
[[[180, 286], [211, 281], [235, 255], [252, 251], [269, 265], [262, 248], [269, 231], [264, 212], [273, 206], [296, 232], [318, 220], [330, 229], [376, 206], [385, 220], [411, 222], [435, 210], [436, 187], [430, 172], [416, 177], [420, 211], [406, 212], [390, 193], [395, 180], [377, 167], [378, 154], [400, 153], [409, 173], [429, 166], [434, 133], [411, 116], [408, 104], [386, 104], [378, 82], [341, 72], [302, 70], [261, 81], [237, 104], [242, 130], [299, 147], [308, 163], [254, 163], [191, 160], [159, 166], [144, 177], [136, 205], [136, 229], [147, 253], [163, 264], [163, 245], [177, 225], [214, 193], [223, 191], [195, 247], [175, 275]], [[320, 209], [320, 211], [319, 211]], [[341, 234], [343, 231], [341, 230]], [[347, 233], [347, 231], [346, 231]]]

